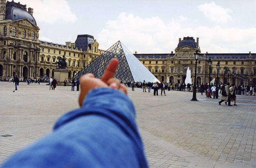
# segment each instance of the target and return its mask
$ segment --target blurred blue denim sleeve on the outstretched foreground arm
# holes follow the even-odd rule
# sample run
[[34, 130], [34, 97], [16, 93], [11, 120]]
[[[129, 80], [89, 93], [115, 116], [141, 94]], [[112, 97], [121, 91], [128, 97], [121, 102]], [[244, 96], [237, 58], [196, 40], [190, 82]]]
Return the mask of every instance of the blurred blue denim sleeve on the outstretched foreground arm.
[[4, 168], [146, 168], [129, 97], [92, 89], [80, 109], [64, 114], [52, 133], [13, 155]]

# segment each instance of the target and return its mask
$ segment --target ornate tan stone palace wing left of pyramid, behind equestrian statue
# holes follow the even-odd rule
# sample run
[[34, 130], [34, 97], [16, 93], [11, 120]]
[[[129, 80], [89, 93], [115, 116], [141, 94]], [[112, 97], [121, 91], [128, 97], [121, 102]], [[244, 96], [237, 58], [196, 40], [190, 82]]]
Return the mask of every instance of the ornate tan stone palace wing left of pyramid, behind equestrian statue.
[[[72, 77], [102, 53], [99, 43], [93, 39], [93, 36], [90, 36], [93, 40], [90, 41], [88, 44], [90, 47], [86, 50], [75, 48], [75, 43], [71, 42], [63, 45], [40, 41], [38, 39], [40, 29], [32, 16], [32, 8], [29, 8], [27, 12], [26, 5], [13, 1], [6, 2], [6, 0], [1, 0], [0, 5], [0, 77], [17, 75], [23, 79], [38, 78], [44, 74], [53, 76], [53, 69], [57, 68], [54, 63], [58, 56], [63, 55], [67, 60], [69, 77]], [[5, 6], [18, 8], [23, 12], [22, 15], [29, 17], [18, 20], [10, 19]]]

